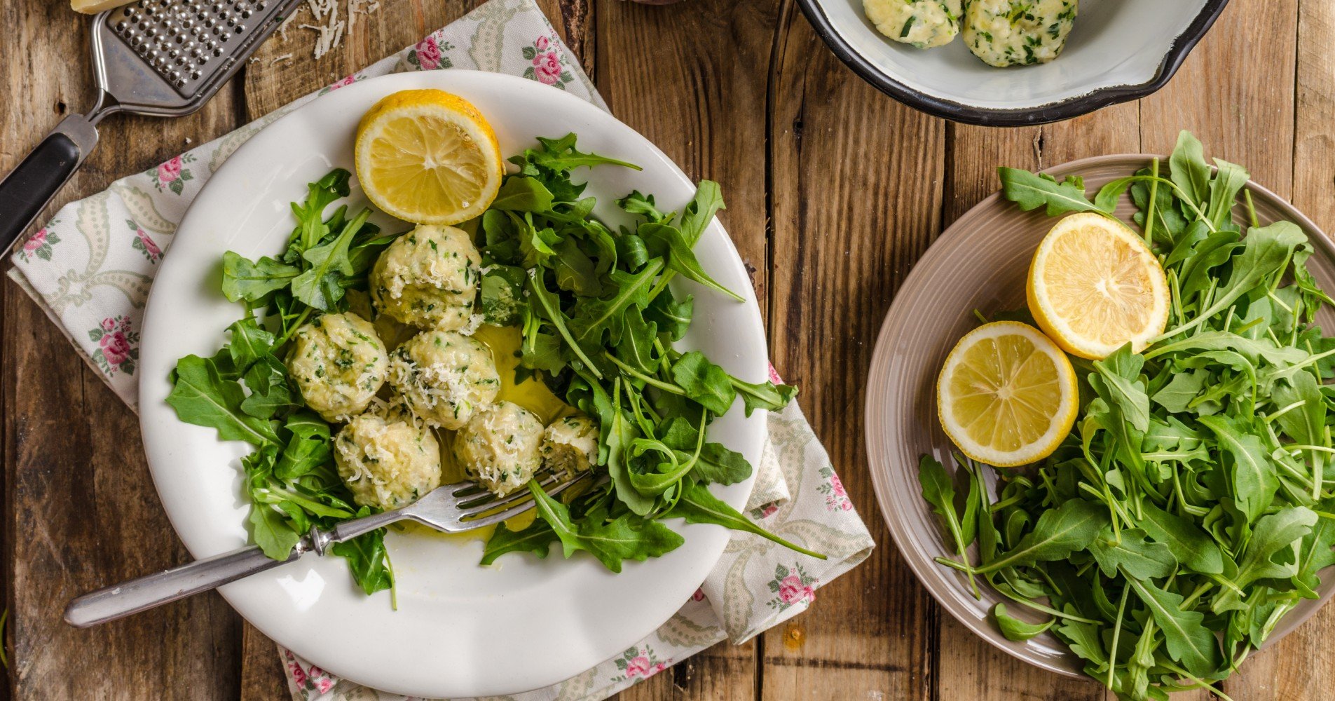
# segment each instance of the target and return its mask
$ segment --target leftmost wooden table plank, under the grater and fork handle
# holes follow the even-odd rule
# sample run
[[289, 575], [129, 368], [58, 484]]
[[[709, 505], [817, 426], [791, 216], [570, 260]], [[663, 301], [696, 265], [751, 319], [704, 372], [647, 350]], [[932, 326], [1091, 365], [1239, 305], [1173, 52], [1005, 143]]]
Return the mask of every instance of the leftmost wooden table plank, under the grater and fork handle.
[[[88, 19], [61, 3], [0, 7], [0, 172], [71, 111], [91, 104]], [[55, 206], [104, 188], [235, 126], [224, 88], [183, 119], [113, 116], [103, 144]], [[43, 218], [45, 219], [45, 216]], [[11, 682], [20, 698], [164, 697], [192, 685], [200, 698], [236, 696], [238, 618], [219, 597], [198, 597], [75, 630], [60, 614], [85, 590], [188, 559], [154, 495], [134, 414], [79, 359], [15, 286], [4, 286], [4, 525]]]

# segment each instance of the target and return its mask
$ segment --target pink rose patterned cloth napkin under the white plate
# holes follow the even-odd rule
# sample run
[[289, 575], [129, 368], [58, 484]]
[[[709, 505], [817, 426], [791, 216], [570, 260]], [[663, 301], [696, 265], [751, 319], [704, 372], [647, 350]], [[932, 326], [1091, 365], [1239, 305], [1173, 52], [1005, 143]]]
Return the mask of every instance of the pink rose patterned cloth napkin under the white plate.
[[[522, 75], [607, 108], [533, 0], [491, 0], [364, 71], [64, 206], [13, 254], [9, 278], [134, 409], [139, 323], [148, 287], [176, 224], [218, 167], [260, 128], [318, 95], [366, 77], [445, 68]], [[817, 588], [866, 559], [874, 547], [872, 537], [801, 409], [794, 402], [768, 421], [748, 510], [766, 529], [829, 559], [737, 533], [690, 601], [647, 638], [570, 680], [509, 698], [606, 698], [716, 642], [740, 644], [797, 616], [814, 601]], [[340, 680], [290, 650], [279, 654], [294, 700], [402, 698]]]

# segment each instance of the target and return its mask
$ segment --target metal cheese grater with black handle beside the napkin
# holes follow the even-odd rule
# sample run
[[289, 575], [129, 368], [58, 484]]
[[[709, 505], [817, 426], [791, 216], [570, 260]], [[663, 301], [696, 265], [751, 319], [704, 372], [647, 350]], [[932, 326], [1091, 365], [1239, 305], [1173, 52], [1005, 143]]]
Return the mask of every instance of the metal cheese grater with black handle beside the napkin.
[[0, 180], [0, 256], [79, 168], [115, 112], [188, 115], [208, 101], [300, 0], [142, 0], [92, 20], [97, 96]]

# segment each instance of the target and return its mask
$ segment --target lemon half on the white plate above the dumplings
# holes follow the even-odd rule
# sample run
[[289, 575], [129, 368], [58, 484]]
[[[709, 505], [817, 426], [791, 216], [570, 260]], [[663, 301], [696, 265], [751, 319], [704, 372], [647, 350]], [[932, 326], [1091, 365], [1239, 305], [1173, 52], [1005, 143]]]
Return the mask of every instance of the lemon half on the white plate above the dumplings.
[[356, 127], [355, 156], [366, 196], [415, 224], [458, 224], [481, 215], [505, 172], [482, 112], [439, 89], [406, 89], [375, 103]]

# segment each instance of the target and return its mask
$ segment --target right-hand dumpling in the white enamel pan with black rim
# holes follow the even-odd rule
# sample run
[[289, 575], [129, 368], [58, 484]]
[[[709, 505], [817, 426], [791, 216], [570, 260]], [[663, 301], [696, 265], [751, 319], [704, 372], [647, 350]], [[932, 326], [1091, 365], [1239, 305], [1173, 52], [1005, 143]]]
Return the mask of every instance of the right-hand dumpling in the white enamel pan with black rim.
[[1065, 47], [1076, 9], [1076, 0], [971, 0], [964, 43], [999, 68], [1048, 63]]

